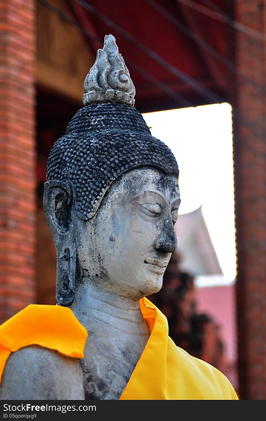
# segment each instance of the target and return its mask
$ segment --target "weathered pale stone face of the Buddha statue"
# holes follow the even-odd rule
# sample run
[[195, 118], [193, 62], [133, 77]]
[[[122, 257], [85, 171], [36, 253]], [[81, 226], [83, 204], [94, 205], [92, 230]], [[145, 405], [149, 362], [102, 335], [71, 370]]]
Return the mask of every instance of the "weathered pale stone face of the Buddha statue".
[[[161, 289], [177, 247], [174, 222], [179, 203], [176, 177], [144, 167], [113, 183], [95, 218], [83, 221], [72, 213], [76, 282], [93, 282], [100, 290], [137, 301]], [[150, 271], [154, 259], [161, 267]]]

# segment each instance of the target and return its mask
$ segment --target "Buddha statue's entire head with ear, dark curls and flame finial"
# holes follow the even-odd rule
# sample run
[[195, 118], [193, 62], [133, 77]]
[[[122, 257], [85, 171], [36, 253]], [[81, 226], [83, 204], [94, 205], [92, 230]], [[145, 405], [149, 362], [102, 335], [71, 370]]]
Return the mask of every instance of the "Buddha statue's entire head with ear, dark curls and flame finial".
[[51, 149], [44, 189], [64, 306], [86, 282], [134, 299], [158, 291], [177, 246], [178, 166], [133, 107], [135, 88], [112, 35], [84, 90], [85, 106]]

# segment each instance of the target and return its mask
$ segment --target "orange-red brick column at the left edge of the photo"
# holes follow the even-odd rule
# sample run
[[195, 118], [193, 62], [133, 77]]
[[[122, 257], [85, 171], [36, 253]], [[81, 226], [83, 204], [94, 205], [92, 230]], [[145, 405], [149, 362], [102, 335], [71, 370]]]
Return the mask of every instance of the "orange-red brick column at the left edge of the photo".
[[0, 322], [35, 300], [35, 1], [0, 0]]

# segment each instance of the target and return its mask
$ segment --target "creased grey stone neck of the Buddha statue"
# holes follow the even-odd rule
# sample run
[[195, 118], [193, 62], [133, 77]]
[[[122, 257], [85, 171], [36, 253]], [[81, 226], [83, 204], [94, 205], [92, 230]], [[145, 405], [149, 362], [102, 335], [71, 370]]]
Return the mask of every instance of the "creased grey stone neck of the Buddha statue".
[[91, 282], [77, 285], [70, 306], [81, 324], [90, 330], [93, 325], [110, 325], [111, 330], [133, 335], [148, 335], [149, 328], [140, 311], [138, 300], [104, 291]]

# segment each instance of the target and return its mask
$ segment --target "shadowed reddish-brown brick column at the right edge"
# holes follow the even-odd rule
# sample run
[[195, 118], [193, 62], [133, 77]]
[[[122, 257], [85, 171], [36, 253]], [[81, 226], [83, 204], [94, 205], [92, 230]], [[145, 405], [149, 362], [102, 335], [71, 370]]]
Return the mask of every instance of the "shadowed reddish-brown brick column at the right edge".
[[[235, 0], [234, 13], [266, 38], [266, 0]], [[254, 82], [236, 77], [233, 112], [239, 393], [245, 400], [266, 399], [266, 48], [254, 35], [235, 31], [236, 65]]]

